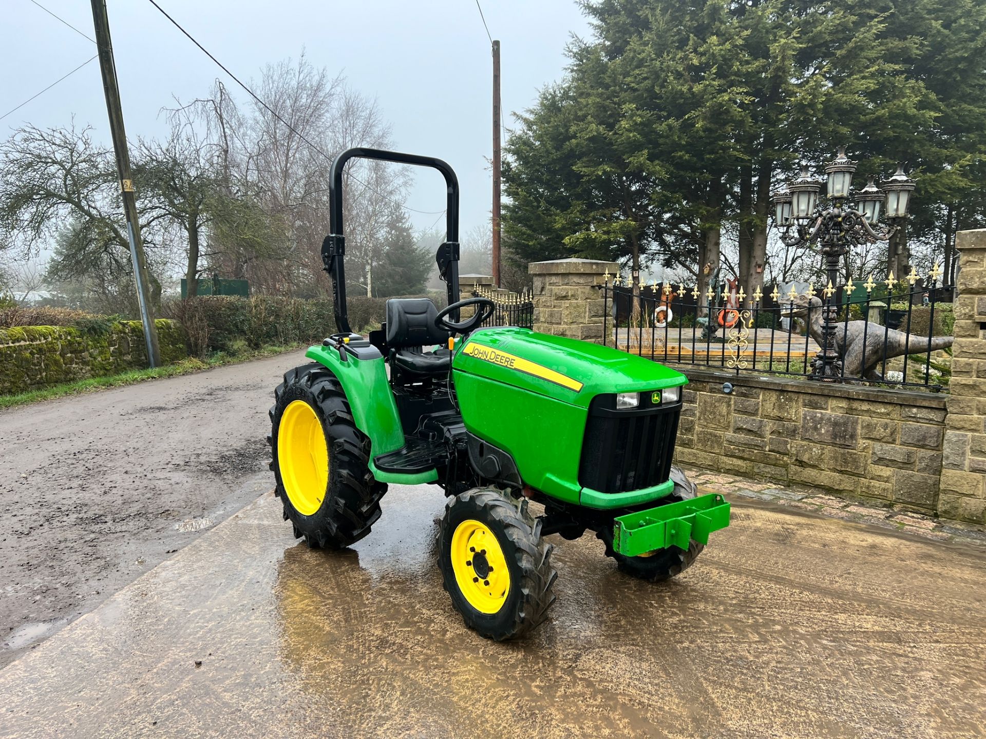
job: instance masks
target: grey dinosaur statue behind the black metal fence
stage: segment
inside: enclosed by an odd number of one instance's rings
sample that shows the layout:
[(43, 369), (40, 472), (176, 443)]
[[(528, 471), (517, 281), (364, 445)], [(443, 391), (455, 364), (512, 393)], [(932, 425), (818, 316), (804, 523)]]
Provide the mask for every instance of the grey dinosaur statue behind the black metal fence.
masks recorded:
[[(800, 318), (809, 326), (809, 333), (820, 347), (824, 342), (821, 329), (822, 303), (816, 296), (808, 298), (796, 296), (793, 300), (781, 301), (781, 314), (785, 317)], [(810, 307), (809, 307), (810, 305)], [(883, 350), (883, 337), (886, 336), (886, 351)], [(866, 342), (864, 344), (864, 336)], [(905, 354), (926, 354), (928, 350), (951, 347), (951, 336), (911, 336), (903, 331), (885, 329), (877, 323), (867, 321), (840, 321), (835, 331), (835, 349), (843, 362), (846, 377), (862, 377), (882, 381), (877, 366), (883, 359), (890, 360)], [(866, 351), (864, 352), (864, 346)], [(864, 364), (864, 354), (865, 363)]]

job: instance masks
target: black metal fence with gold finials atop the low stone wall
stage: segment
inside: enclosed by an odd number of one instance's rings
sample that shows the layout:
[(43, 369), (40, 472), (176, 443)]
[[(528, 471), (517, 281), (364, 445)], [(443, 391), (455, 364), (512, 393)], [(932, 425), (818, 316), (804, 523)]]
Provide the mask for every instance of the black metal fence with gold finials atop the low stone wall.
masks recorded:
[[(617, 278), (600, 286), (603, 343), (658, 362), (817, 379), (816, 358), (834, 352), (837, 374), (828, 381), (938, 391), (951, 374), (941, 350), (951, 347), (952, 290), (922, 288), (915, 277), (768, 295), (746, 295), (735, 283), (705, 293), (641, 285), (636, 297)], [(834, 347), (825, 346), (826, 311), (836, 321)]]

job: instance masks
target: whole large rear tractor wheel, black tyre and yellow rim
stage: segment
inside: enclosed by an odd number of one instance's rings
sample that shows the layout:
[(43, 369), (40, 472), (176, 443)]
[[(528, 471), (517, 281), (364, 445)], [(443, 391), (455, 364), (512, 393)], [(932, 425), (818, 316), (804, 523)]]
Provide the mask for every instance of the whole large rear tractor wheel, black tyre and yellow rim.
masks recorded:
[(269, 415), (274, 492), (295, 536), (342, 549), (369, 534), (387, 485), (370, 472), (370, 439), (338, 379), (318, 364), (288, 370)]

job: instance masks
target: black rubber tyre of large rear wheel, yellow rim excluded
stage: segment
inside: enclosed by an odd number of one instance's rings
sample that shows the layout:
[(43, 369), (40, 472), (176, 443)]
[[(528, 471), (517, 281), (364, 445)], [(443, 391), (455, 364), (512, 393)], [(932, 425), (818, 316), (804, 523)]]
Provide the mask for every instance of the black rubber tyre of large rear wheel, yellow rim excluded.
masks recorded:
[[(291, 403), (308, 404), (317, 416), (328, 458), (327, 485), (317, 510), (298, 509), (285, 488), (278, 454), (279, 428)], [(370, 533), (381, 516), (380, 500), (387, 484), (370, 472), (370, 439), (356, 428), (349, 402), (338, 379), (321, 365), (288, 370), (274, 390), (270, 412), (273, 459), (270, 468), (276, 482), (275, 495), (284, 506), (284, 519), (294, 526), (296, 537), (305, 537), (310, 547), (342, 549)]]

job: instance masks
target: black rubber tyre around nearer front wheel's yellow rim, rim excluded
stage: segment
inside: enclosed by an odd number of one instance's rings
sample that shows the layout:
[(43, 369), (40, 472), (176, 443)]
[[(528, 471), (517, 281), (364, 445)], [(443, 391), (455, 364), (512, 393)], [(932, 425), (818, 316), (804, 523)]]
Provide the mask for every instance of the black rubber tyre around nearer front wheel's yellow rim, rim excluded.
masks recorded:
[[(495, 537), (510, 574), (509, 589), (495, 613), (474, 607), (457, 580), (453, 539), (458, 527), (469, 522), (481, 523)], [(528, 514), (526, 501), (515, 504), (495, 488), (474, 488), (446, 505), (439, 526), (438, 567), (465, 625), (482, 637), (503, 641), (528, 633), (547, 618), (558, 576), (549, 563), (553, 549), (541, 538), (541, 523)]]

